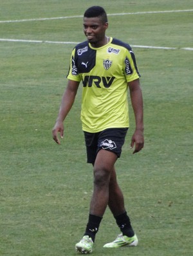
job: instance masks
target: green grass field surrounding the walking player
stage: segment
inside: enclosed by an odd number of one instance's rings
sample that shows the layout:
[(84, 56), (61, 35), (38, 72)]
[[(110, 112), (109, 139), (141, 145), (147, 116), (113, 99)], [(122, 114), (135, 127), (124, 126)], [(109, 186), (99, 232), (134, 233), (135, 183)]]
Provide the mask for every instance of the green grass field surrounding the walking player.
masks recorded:
[[(131, 129), (116, 169), (140, 244), (102, 247), (119, 232), (107, 209), (93, 255), (192, 255), (191, 2), (97, 1), (111, 14), (107, 35), (134, 46), (142, 75), (145, 148), (132, 155), (131, 111)], [(82, 17), (71, 16), (83, 15), (91, 5), (96, 1), (1, 0), (2, 256), (77, 255), (75, 243), (84, 233), (93, 187), (79, 118), (81, 87), (60, 146), (51, 129), (73, 42), (85, 40)]]

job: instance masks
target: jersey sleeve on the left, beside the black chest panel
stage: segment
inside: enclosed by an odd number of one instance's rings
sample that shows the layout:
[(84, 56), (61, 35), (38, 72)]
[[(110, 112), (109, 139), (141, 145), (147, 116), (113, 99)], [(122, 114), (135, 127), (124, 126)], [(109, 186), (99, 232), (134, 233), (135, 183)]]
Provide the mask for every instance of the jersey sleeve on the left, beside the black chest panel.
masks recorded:
[(71, 53), (68, 75), (69, 80), (80, 82), (82, 80), (81, 75), (78, 73), (77, 61), (75, 60), (75, 48)]

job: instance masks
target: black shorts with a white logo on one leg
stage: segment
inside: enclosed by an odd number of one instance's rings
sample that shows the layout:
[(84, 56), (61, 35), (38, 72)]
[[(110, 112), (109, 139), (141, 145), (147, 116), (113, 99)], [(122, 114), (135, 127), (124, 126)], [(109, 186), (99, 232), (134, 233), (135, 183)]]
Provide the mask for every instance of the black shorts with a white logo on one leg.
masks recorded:
[(84, 132), (87, 162), (95, 163), (99, 150), (108, 150), (120, 157), (128, 128), (109, 128), (102, 132)]

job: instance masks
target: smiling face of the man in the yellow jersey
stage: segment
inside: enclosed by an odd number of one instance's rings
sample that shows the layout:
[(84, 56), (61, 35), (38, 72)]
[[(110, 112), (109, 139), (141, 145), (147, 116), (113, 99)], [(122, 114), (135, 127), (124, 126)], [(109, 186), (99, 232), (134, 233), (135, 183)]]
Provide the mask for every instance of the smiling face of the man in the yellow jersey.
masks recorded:
[(108, 23), (103, 23), (100, 17), (84, 17), (83, 22), (84, 34), (91, 46), (97, 48), (106, 44), (106, 29)]

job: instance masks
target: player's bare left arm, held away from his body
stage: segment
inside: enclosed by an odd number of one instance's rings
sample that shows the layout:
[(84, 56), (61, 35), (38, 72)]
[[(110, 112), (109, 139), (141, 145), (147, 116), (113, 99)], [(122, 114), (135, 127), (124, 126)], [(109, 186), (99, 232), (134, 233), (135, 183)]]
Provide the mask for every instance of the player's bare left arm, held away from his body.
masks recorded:
[(73, 106), (73, 103), (75, 101), (75, 97), (77, 94), (79, 82), (68, 80), (68, 84), (66, 87), (66, 90), (62, 96), (62, 103), (60, 105), (59, 115), (57, 117), (57, 121), (55, 123), (55, 126), (52, 130), (52, 137), (53, 140), (60, 144), (59, 138), (58, 138), (58, 132), (60, 132), (60, 137), (63, 138), (64, 134), (64, 124), (63, 121), (68, 115), (69, 110), (71, 110), (71, 107)]

